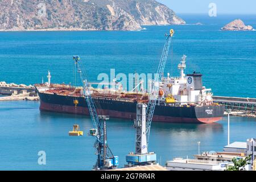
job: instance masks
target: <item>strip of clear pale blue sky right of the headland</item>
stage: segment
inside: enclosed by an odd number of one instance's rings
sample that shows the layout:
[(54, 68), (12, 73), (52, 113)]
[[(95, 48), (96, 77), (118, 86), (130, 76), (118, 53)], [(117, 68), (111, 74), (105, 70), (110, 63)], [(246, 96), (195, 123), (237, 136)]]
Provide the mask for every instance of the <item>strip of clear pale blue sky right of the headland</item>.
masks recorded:
[(256, 14), (255, 0), (156, 0), (175, 13), (208, 13), (209, 3), (216, 3), (218, 14)]

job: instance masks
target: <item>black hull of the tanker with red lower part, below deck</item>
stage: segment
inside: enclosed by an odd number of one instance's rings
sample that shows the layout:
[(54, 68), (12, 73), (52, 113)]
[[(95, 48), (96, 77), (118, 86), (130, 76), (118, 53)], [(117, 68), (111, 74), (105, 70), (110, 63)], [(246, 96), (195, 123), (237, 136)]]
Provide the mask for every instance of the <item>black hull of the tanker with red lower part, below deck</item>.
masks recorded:
[[(89, 115), (84, 97), (76, 97), (79, 104), (73, 104), (73, 96), (64, 96), (52, 93), (38, 92), (40, 97), (40, 110), (60, 113), (77, 113)], [(137, 102), (112, 100), (109, 98), (94, 97), (99, 105), (98, 113), (114, 118), (135, 119)], [(160, 106), (156, 105), (152, 121), (178, 122), (178, 123), (213, 123), (219, 121), (224, 115), (225, 106)]]

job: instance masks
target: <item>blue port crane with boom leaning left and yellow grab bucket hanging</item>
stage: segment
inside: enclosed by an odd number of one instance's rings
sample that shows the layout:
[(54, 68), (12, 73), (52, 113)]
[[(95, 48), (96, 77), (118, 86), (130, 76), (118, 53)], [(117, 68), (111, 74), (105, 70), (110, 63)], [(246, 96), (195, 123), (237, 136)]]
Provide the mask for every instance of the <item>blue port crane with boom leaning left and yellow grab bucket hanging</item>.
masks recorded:
[[(82, 67), (80, 57), (73, 56), (73, 60), (75, 61), (76, 71), (79, 73), (80, 79), (82, 81), (84, 97), (87, 102), (88, 110), (93, 123), (93, 129), (90, 129), (89, 135), (96, 138), (94, 147), (96, 148), (97, 162), (93, 169), (104, 170), (117, 168), (118, 156), (113, 155), (107, 143), (106, 120), (109, 119), (109, 116), (98, 115), (96, 103), (93, 101), (91, 95), (92, 91), (90, 90), (90, 86), (86, 80), (86, 73)], [(76, 103), (78, 104), (78, 101)], [(74, 125), (74, 129), (73, 131), (69, 132), (69, 135), (79, 136), (82, 135), (82, 133), (79, 130), (79, 127)]]

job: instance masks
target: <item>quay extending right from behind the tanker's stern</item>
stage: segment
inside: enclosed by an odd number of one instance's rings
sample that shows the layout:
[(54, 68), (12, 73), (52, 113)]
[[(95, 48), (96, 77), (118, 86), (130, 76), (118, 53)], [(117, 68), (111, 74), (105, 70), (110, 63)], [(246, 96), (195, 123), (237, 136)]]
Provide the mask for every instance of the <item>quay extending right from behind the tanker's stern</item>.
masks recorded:
[(256, 118), (256, 98), (213, 96), (213, 102), (231, 109), (230, 115)]

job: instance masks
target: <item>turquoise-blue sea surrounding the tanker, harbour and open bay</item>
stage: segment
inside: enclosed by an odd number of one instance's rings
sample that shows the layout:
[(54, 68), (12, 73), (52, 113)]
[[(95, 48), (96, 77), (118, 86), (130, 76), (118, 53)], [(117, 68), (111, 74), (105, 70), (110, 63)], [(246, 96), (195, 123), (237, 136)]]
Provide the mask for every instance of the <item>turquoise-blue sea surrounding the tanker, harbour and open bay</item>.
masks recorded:
[[(187, 73), (203, 73), (204, 86), (214, 95), (256, 97), (256, 31), (220, 31), (230, 21), (241, 18), (256, 28), (256, 15), (180, 15), (182, 26), (146, 26), (141, 31), (59, 31), (0, 32), (0, 81), (35, 84), (47, 80), (69, 83), (73, 78), (72, 55), (80, 55), (88, 79), (97, 81), (99, 73), (152, 73), (162, 53), (164, 34), (174, 28), (173, 59), (166, 72), (178, 75), (176, 67), (187, 55)], [(202, 25), (195, 25), (195, 23)], [(92, 127), (89, 117), (47, 113), (39, 102), (0, 102), (0, 169), (79, 169), (89, 170), (96, 162), (94, 138), (68, 137), (74, 123), (84, 133)], [(201, 151), (221, 151), (227, 143), (227, 119), (207, 124), (152, 123), (150, 151), (159, 162), (186, 158)], [(134, 151), (133, 122), (111, 118), (108, 122), (109, 146), (119, 156)], [(256, 120), (231, 117), (230, 140), (256, 137)], [(38, 152), (46, 152), (46, 165), (38, 164)]]

